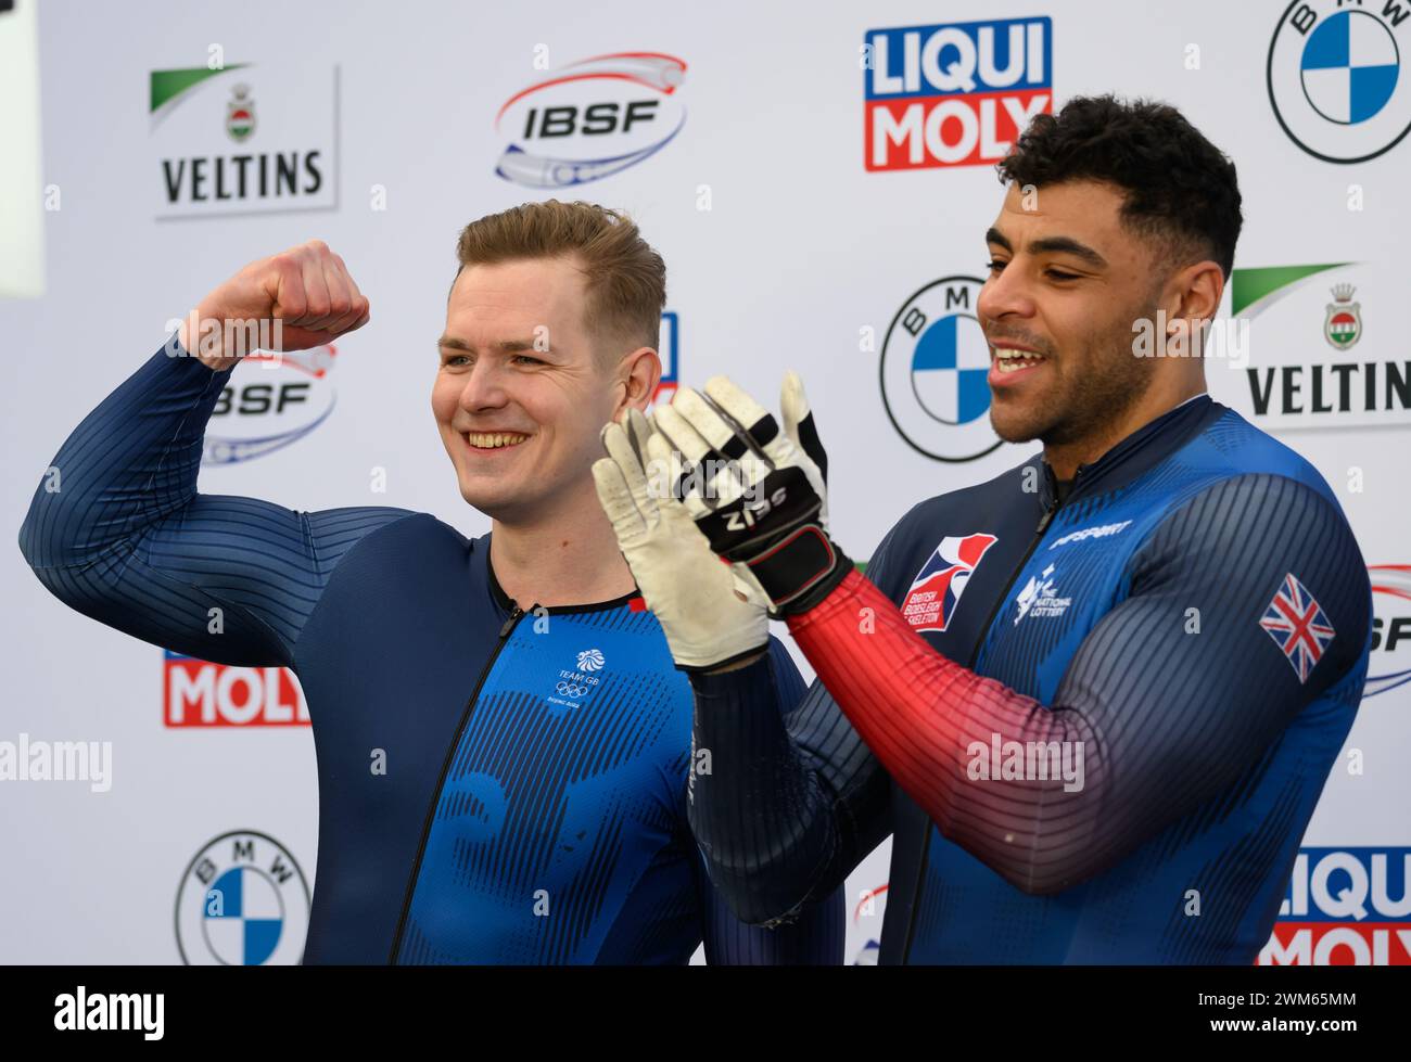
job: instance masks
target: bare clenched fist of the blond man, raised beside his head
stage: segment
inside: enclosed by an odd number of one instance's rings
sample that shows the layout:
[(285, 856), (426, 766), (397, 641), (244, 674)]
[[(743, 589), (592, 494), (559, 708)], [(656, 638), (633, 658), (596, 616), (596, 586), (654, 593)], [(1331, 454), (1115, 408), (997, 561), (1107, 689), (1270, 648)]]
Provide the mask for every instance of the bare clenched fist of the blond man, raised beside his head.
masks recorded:
[[(264, 322), (274, 350), (308, 350), (368, 322), (368, 302), (343, 260), (322, 240), (250, 262), (200, 300), (198, 333), (182, 322), (181, 344), (213, 370), (234, 365), (250, 350), (227, 350), (231, 336)], [(206, 322), (216, 322), (220, 329)], [(279, 322), (279, 331), (274, 330)], [(196, 346), (192, 346), (196, 344)]]

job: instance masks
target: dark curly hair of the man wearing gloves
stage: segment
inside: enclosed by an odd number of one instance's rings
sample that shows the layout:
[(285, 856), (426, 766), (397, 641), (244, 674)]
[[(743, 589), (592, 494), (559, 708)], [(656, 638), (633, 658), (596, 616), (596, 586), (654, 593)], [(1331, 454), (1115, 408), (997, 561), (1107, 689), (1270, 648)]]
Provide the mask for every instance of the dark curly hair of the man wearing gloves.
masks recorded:
[(1122, 220), (1168, 268), (1208, 257), (1229, 279), (1242, 224), (1235, 164), (1175, 107), (1077, 96), (1040, 114), (998, 164), (1020, 188), (1101, 181), (1126, 193)]

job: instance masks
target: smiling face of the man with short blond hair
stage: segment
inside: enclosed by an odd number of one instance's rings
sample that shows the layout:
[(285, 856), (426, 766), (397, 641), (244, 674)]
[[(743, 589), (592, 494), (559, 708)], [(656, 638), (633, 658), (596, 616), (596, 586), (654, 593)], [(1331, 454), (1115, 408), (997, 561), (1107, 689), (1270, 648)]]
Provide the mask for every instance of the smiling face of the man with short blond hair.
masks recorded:
[(461, 496), (492, 519), (597, 506), (598, 432), (635, 395), (583, 317), (583, 274), (569, 258), (470, 265), (456, 279), (432, 410)]

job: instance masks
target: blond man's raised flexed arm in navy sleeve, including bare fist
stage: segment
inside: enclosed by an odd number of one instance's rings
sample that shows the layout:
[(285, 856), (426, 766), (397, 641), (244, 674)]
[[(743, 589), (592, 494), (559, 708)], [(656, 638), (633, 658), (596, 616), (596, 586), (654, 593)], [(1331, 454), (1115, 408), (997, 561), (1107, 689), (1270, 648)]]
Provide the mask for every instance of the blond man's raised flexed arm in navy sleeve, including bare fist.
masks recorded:
[[(310, 244), (246, 267), (199, 317), (277, 319), (284, 348), (301, 350), (360, 327), (367, 300)], [(198, 494), (206, 422), (241, 353), (213, 333), (203, 344), (172, 336), (59, 448), (20, 549), (55, 597), (102, 623), (217, 663), (288, 664), (339, 557), (409, 513)]]

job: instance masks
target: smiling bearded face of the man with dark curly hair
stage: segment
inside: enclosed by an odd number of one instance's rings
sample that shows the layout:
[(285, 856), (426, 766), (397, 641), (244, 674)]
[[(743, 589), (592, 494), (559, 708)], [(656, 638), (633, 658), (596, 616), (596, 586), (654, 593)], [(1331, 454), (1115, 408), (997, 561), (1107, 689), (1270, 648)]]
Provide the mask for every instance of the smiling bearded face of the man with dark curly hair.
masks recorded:
[(1122, 224), (1118, 189), (1072, 181), (1034, 199), (1026, 210), (1012, 183), (988, 233), (976, 306), (991, 347), (991, 423), (1012, 443), (1067, 446), (1110, 433), (1165, 371), (1164, 360), (1132, 351), (1133, 322), (1154, 320), (1165, 278), (1154, 274), (1151, 241)]

